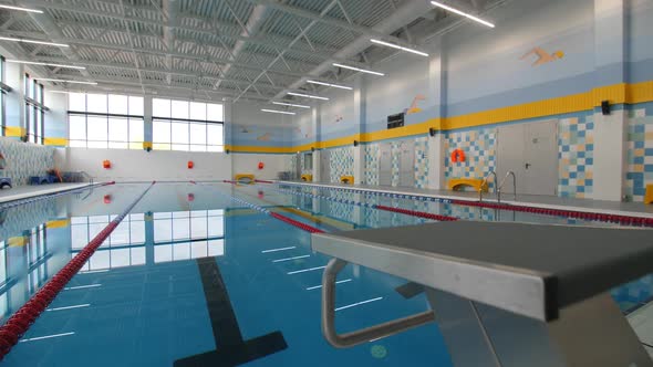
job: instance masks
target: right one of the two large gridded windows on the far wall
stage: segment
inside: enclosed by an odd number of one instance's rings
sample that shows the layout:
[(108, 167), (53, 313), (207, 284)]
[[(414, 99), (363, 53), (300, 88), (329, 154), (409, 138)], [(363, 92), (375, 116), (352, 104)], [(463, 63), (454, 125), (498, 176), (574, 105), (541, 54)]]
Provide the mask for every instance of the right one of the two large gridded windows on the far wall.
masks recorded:
[(152, 102), (154, 149), (222, 151), (222, 105), (162, 98)]

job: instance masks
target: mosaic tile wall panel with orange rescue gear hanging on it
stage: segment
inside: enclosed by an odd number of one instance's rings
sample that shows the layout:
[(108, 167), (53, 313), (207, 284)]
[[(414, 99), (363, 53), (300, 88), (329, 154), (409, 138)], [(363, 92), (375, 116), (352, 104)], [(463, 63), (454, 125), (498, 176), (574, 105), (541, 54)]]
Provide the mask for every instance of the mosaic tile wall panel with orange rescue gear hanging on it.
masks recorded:
[[(465, 161), (452, 162), (449, 157), (455, 149), (463, 149)], [(446, 133), (446, 180), (450, 178), (484, 178), (496, 169), (496, 161), (497, 130), (495, 128)]]

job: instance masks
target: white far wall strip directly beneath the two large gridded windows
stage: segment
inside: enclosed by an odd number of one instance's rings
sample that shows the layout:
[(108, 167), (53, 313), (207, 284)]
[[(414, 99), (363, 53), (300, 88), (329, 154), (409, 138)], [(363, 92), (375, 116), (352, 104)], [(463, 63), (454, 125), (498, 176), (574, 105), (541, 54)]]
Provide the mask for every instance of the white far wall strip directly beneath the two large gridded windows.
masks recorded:
[[(105, 159), (111, 169), (102, 168)], [(224, 180), (231, 177), (231, 158), (222, 153), (68, 148), (66, 170), (86, 171), (96, 181)]]

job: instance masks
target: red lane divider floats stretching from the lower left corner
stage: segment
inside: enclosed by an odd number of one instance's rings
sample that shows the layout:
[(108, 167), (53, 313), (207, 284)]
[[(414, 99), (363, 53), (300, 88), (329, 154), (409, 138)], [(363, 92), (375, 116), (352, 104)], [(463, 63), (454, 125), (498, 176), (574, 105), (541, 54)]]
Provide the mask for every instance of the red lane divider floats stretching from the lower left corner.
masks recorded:
[[(154, 182), (152, 182), (154, 185)], [(0, 327), (0, 360), (11, 350), (11, 348), (28, 332), (37, 318), (48, 308), (48, 305), (56, 297), (59, 292), (70, 282), (70, 280), (91, 259), (95, 250), (108, 238), (123, 219), (132, 211), (141, 199), (149, 191), (152, 185), (131, 203), (122, 214), (116, 217), (106, 226), (82, 251), (80, 251), (65, 266), (63, 266), (52, 279), (34, 293), (32, 297), (22, 305), (2, 327)]]

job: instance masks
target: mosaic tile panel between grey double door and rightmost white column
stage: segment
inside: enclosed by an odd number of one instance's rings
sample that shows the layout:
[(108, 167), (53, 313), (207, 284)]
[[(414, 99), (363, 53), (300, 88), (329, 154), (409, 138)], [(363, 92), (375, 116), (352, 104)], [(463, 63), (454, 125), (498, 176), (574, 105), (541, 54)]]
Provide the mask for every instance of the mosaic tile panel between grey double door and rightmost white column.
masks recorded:
[(594, 184), (594, 118), (562, 118), (558, 123), (558, 196), (591, 197)]

